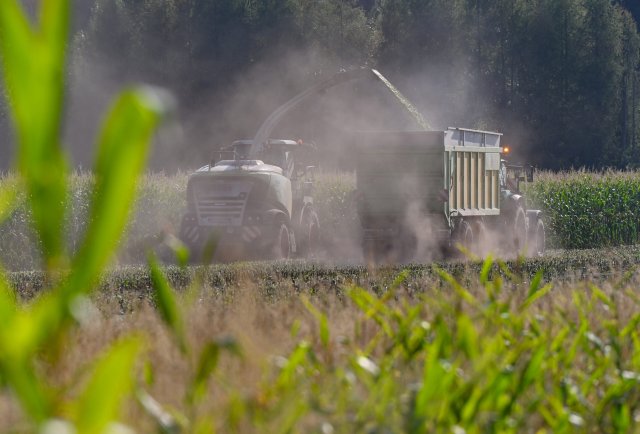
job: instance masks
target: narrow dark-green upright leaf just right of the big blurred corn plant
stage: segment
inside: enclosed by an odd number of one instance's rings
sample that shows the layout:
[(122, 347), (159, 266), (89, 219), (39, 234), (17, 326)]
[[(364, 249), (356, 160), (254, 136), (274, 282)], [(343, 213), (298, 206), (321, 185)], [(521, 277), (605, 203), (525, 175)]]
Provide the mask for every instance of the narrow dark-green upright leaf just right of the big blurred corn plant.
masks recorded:
[(149, 257), (149, 268), (151, 270), (151, 281), (155, 290), (155, 301), (160, 311), (160, 316), (171, 330), (183, 353), (187, 352), (187, 342), (184, 335), (184, 319), (176, 301), (173, 289), (162, 274), (160, 266), (153, 256)]

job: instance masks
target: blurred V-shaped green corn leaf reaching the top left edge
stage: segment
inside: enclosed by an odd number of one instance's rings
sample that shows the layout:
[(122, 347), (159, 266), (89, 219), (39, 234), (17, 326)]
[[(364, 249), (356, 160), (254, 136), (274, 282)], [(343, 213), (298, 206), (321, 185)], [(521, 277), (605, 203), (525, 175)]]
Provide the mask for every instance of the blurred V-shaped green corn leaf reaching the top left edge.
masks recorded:
[(68, 0), (43, 0), (32, 29), (17, 0), (0, 2), (0, 47), (33, 224), (50, 269), (63, 264), (67, 164), (59, 142)]

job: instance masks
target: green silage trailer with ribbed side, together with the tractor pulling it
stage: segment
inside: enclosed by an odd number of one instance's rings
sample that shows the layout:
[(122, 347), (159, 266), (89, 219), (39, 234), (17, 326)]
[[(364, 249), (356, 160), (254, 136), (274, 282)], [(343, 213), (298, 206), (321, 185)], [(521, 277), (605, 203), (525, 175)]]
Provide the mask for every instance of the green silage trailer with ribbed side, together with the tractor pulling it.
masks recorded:
[(520, 192), (532, 171), (509, 166), (500, 140), (500, 133), (463, 128), (359, 134), (365, 259), (407, 262), (460, 246), (476, 254), (543, 254), (542, 214), (527, 209)]

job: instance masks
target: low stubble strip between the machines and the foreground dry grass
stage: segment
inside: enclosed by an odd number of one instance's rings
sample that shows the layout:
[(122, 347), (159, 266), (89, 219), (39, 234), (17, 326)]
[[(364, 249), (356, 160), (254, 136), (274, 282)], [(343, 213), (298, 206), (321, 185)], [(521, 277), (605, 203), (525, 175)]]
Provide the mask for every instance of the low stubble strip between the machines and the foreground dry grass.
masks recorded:
[[(555, 251), (543, 258), (511, 260), (495, 263), (492, 273), (511, 273), (523, 282), (542, 272), (546, 281), (572, 282), (590, 279), (601, 281), (635, 270), (640, 263), (640, 246), (616, 249)], [(408, 271), (404, 287), (408, 292), (422, 292), (429, 284), (441, 285), (438, 269), (472, 284), (480, 274), (483, 261), (456, 261), (434, 264), (407, 264), (370, 268), (360, 265), (332, 266), (301, 261), (248, 262), (209, 267), (167, 266), (169, 282), (179, 290), (202, 284), (208, 290), (232, 294), (248, 286), (256, 294), (277, 301), (300, 292), (340, 293), (351, 285), (384, 292), (403, 270)], [(23, 299), (29, 299), (45, 288), (44, 273), (14, 272), (9, 274), (12, 286)], [(426, 284), (426, 285), (425, 285)], [(122, 308), (135, 299), (151, 299), (153, 286), (146, 267), (123, 267), (109, 272), (100, 283), (99, 294), (112, 295), (122, 301)]]

